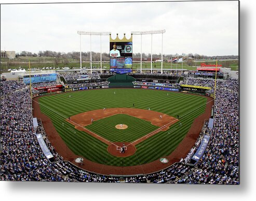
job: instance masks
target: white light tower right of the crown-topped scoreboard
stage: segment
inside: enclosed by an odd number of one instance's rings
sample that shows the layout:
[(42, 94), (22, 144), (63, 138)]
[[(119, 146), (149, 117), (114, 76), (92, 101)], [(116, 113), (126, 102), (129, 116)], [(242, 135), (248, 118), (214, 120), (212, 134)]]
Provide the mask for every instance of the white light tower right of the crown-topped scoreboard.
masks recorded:
[(163, 30), (144, 30), (138, 32), (131, 32), (132, 35), (141, 35), (141, 53), (140, 53), (140, 72), (142, 73), (142, 35), (151, 34), (151, 73), (152, 73), (152, 40), (153, 34), (162, 34), (162, 52), (161, 52), (161, 74), (163, 74), (163, 34), (165, 33), (165, 29)]

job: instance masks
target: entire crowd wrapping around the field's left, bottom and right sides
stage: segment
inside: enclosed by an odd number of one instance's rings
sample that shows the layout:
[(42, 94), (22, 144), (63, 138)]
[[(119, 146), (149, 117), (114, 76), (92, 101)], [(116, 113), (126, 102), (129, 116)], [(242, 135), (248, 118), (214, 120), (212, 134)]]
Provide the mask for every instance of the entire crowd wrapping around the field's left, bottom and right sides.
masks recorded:
[[(214, 86), (212, 80), (188, 79), (187, 84)], [(33, 128), (29, 87), (16, 81), (1, 82), (0, 178), (18, 181), (238, 184), (238, 81), (218, 81), (217, 85), (214, 127), (212, 132), (203, 130), (203, 134), (211, 134), (210, 142), (195, 166), (187, 163), (200, 141), (196, 142), (184, 161), (164, 171), (119, 178), (89, 173), (63, 161), (47, 139), (43, 125), (39, 122), (39, 126)], [(51, 163), (44, 156), (36, 133), (44, 136), (55, 162)]]

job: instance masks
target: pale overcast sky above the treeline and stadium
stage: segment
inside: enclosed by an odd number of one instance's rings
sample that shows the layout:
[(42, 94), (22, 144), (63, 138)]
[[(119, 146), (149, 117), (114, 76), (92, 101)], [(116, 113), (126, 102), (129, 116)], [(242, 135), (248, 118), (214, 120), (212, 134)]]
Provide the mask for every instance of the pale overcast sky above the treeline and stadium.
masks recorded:
[[(238, 55), (238, 1), (1, 5), (1, 50), (7, 51), (80, 51), (77, 30), (129, 38), (159, 29), (166, 30), (164, 54)], [(82, 51), (90, 51), (90, 37), (81, 38)], [(140, 53), (140, 40), (133, 36), (133, 53)], [(100, 36), (91, 41), (100, 52)], [(109, 52), (109, 36), (102, 36), (102, 52)], [(151, 53), (151, 35), (142, 36), (142, 52)], [(160, 52), (155, 34), (153, 53)]]

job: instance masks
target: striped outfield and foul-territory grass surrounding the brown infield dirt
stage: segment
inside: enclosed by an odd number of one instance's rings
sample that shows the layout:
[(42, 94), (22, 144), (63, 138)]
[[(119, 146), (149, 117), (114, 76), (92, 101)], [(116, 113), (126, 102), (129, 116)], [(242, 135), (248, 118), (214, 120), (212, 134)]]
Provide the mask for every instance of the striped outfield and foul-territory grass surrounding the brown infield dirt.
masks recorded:
[[(207, 98), (201, 96), (147, 89), (97, 89), (39, 98), (42, 112), (51, 118), (57, 132), (75, 154), (94, 162), (115, 166), (145, 164), (169, 155), (183, 140), (194, 119), (205, 112), (206, 101)], [(133, 108), (133, 103), (135, 108), (147, 110), (150, 107), (152, 111), (173, 117), (179, 115), (182, 126), (179, 126), (179, 122), (175, 123), (168, 131), (161, 131), (136, 145), (137, 151), (133, 156), (119, 158), (107, 152), (107, 145), (83, 131), (77, 131), (64, 120), (69, 116), (103, 107)], [(177, 130), (170, 132), (174, 128)]]

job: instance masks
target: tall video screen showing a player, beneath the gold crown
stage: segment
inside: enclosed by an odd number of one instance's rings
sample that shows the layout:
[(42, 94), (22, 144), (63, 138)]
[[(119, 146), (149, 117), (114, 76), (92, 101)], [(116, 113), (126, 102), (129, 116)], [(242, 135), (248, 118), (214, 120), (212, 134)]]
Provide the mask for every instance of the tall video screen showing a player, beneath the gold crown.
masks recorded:
[(110, 42), (110, 71), (132, 71), (132, 42)]

